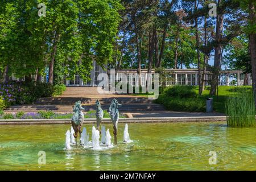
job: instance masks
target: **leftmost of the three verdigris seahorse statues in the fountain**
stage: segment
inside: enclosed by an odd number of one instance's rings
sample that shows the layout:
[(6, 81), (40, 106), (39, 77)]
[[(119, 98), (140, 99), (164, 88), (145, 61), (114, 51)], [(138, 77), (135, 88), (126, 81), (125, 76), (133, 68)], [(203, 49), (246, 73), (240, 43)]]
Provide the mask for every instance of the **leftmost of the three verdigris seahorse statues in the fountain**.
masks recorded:
[[(72, 117), (72, 122), (71, 122), (72, 127), (75, 131), (74, 133), (75, 138), (78, 137), (78, 133), (79, 133), (79, 138), (81, 138), (82, 122), (84, 122), (84, 113), (82, 113), (82, 110), (84, 110), (84, 108), (81, 105), (81, 101), (77, 101), (75, 106), (73, 107), (74, 115)], [(76, 142), (76, 147), (77, 147), (77, 142)]]

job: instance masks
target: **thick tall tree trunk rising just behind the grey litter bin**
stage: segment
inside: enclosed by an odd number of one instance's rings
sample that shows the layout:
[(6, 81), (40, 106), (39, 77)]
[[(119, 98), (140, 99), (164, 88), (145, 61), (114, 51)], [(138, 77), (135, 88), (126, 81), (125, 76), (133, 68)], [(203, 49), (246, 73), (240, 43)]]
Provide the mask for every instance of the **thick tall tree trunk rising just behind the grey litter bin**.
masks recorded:
[[(220, 4), (221, 0), (218, 0)], [(221, 38), (223, 31), (223, 14), (217, 15), (216, 21), (216, 46), (214, 46), (214, 65), (213, 65), (213, 75), (212, 75), (212, 84), (210, 86), (210, 96), (216, 95), (216, 89), (218, 85), (218, 75), (220, 73), (220, 61), (221, 61)]]

